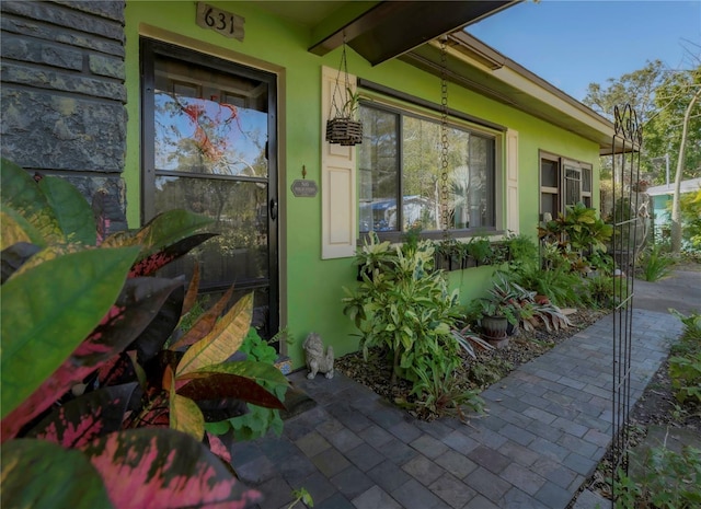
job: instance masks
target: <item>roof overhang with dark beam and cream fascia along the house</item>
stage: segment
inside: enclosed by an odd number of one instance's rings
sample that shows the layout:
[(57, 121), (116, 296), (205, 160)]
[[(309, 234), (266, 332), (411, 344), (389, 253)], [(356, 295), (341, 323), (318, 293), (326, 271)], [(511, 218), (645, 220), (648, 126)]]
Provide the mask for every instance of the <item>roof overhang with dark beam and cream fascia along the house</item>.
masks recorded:
[(325, 55), (345, 43), (374, 66), (399, 58), (440, 76), (438, 41), (447, 37), (447, 77), (598, 144), (613, 147), (613, 124), (463, 28), (521, 0), (263, 1), (262, 9), (310, 28), (309, 51)]

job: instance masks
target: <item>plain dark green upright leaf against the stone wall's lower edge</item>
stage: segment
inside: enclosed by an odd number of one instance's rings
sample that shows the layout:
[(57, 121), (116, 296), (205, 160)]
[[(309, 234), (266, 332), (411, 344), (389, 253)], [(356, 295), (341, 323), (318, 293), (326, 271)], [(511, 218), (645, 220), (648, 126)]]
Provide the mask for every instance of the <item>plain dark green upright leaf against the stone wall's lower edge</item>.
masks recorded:
[(83, 195), (70, 182), (58, 176), (45, 176), (38, 186), (46, 196), (66, 240), (71, 243), (95, 245), (95, 221), (92, 208)]

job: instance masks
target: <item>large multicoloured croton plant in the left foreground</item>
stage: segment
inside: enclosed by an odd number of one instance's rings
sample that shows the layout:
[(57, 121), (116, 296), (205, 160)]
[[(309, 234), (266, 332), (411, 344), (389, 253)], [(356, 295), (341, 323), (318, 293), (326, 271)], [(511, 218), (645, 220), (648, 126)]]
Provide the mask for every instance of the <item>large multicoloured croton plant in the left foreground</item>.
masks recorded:
[[(206, 423), (283, 408), (268, 363), (231, 360), (252, 297), (231, 291), (175, 338), (197, 275), (154, 273), (211, 238), (172, 210), (105, 235), (100, 200), (1, 161), (2, 507), (243, 508)], [(186, 288), (187, 287), (187, 288)]]

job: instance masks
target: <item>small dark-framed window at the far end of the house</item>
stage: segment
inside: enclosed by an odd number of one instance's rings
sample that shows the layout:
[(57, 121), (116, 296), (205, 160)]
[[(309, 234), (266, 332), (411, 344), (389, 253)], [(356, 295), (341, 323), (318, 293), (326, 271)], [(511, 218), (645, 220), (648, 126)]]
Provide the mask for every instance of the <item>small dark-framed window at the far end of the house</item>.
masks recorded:
[(540, 215), (556, 218), (582, 201), (591, 207), (591, 165), (558, 155), (540, 154)]

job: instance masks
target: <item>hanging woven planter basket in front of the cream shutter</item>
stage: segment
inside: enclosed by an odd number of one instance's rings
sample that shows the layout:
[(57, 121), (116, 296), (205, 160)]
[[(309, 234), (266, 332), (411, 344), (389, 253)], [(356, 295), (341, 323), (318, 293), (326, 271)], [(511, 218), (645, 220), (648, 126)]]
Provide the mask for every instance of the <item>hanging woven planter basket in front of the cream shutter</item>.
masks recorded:
[[(343, 83), (341, 72), (344, 74)], [(342, 84), (344, 85), (343, 94), (341, 93)], [(336, 101), (343, 104), (340, 105)], [(333, 99), (331, 100), (329, 120), (326, 120), (326, 141), (345, 147), (363, 143), (363, 123), (355, 119), (357, 108), (358, 96), (350, 89), (346, 61), (346, 43), (344, 41), (341, 66), (338, 66), (338, 74), (333, 90)]]

